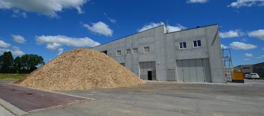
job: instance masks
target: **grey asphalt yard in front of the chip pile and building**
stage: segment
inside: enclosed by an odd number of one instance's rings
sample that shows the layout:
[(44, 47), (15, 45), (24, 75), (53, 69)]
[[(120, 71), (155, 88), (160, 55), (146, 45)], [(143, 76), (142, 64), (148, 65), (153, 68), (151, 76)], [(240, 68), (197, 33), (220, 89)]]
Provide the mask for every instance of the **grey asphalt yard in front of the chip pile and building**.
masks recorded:
[(264, 80), (245, 82), (148, 81), (130, 88), (57, 91), (95, 100), (26, 116), (264, 116)]

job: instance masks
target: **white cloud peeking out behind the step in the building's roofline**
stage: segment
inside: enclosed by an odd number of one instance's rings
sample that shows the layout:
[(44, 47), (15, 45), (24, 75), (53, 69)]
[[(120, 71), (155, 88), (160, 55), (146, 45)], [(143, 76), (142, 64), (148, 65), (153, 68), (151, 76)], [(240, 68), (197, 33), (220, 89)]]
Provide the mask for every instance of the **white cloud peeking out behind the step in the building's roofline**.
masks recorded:
[[(137, 32), (142, 32), (142, 31), (145, 31), (145, 30), (148, 30), (148, 29), (160, 26), (160, 25), (164, 25), (164, 22), (158, 22), (158, 23), (150, 22), (149, 24), (146, 24), (142, 28), (138, 29)], [(180, 24), (176, 24), (176, 26), (168, 25), (167, 28), (171, 32), (187, 29), (187, 27), (184, 27), (184, 26), (182, 26)]]

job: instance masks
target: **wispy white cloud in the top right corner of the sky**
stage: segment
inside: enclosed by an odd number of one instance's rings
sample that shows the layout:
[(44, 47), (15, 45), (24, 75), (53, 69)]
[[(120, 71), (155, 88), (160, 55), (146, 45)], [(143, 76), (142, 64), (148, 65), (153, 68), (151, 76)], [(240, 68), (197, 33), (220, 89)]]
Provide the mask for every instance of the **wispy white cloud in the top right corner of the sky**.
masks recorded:
[(242, 6), (252, 7), (252, 6), (264, 6), (264, 0), (237, 0), (232, 2), (227, 7), (240, 8)]

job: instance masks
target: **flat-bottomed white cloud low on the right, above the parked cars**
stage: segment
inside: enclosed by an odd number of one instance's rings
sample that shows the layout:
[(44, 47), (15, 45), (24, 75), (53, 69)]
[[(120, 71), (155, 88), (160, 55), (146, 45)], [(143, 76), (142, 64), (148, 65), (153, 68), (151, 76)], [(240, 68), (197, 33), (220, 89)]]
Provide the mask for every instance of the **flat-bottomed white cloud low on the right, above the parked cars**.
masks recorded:
[(249, 50), (249, 49), (255, 49), (258, 46), (253, 45), (253, 44), (234, 41), (234, 42), (230, 43), (230, 47), (235, 49), (235, 50)]

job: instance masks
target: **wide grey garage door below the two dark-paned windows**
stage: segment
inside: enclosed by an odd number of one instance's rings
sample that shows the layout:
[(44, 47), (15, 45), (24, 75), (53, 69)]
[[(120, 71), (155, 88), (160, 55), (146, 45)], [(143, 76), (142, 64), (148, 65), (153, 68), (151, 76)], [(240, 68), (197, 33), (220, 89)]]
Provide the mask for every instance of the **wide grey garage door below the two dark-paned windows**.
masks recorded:
[(176, 60), (177, 81), (212, 82), (209, 59)]

